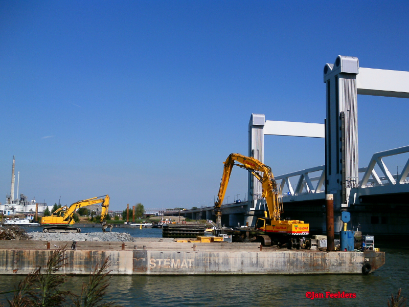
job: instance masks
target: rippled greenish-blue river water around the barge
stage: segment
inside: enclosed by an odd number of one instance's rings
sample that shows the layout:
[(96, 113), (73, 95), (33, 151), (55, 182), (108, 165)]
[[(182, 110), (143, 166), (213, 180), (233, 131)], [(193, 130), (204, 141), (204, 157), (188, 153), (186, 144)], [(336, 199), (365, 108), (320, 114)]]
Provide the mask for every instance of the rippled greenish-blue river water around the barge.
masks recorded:
[[(28, 231), (39, 231), (37, 227)], [(83, 232), (101, 229), (83, 228)], [(134, 237), (161, 237), (161, 229), (113, 229)], [(107, 299), (123, 306), (387, 306), (402, 288), (409, 297), (409, 247), (376, 244), (386, 263), (363, 275), (232, 275), (232, 276), (112, 276)], [(21, 276), (0, 276), (0, 292), (12, 290)], [(87, 277), (73, 276), (66, 289), (81, 292)], [(355, 298), (325, 298), (326, 292), (355, 293)], [(309, 299), (307, 292), (323, 293)], [(5, 303), (6, 296), (0, 295)], [(7, 304), (6, 304), (7, 305)]]

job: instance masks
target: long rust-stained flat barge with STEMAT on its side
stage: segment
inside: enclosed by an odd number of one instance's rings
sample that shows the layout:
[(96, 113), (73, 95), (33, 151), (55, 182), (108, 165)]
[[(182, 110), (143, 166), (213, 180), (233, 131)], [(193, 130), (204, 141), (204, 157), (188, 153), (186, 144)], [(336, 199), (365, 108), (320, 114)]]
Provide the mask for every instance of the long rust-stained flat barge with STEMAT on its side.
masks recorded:
[[(385, 263), (383, 252), (282, 250), (258, 243), (177, 243), (161, 238), (138, 242), (3, 241), (0, 274), (28, 274), (44, 267), (53, 250), (67, 246), (60, 273), (89, 274), (110, 259), (116, 275), (362, 274)], [(162, 239), (163, 240), (163, 239)], [(73, 250), (72, 248), (75, 248)]]

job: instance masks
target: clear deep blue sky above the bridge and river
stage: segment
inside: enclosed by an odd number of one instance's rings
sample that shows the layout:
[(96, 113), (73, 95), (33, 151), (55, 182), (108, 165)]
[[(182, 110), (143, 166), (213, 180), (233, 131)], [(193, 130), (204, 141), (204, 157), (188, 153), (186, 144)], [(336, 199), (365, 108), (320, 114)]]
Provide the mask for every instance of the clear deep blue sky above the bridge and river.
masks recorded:
[[(407, 1), (1, 1), (0, 202), (15, 155), (19, 192), (49, 204), (211, 205), (252, 113), (324, 122), (325, 63), (409, 71), (408, 15)], [(358, 97), (360, 167), (409, 144), (408, 103)], [(324, 164), (323, 140), (265, 148), (276, 176)], [(234, 170), (229, 200), (246, 190)]]

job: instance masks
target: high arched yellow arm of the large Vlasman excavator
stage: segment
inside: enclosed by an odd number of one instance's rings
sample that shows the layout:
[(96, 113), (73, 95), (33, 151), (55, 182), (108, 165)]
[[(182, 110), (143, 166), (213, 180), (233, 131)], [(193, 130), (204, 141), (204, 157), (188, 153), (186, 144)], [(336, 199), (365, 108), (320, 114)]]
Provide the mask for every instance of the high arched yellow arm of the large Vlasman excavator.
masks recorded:
[(240, 155), (240, 153), (231, 153), (231, 155), (223, 163), (223, 175), (221, 177), (220, 189), (217, 194), (217, 201), (215, 202), (214, 209), (217, 218), (217, 228), (221, 227), (221, 204), (223, 203), (224, 195), (229, 184), (230, 175), (234, 165), (248, 170), (262, 183), (262, 197), (265, 198), (268, 209), (268, 212), (264, 212), (265, 217), (269, 217), (272, 220), (279, 220), (280, 214), (283, 212), (283, 207), (278, 199), (278, 187), (271, 172), (271, 168), (253, 157), (245, 157)]

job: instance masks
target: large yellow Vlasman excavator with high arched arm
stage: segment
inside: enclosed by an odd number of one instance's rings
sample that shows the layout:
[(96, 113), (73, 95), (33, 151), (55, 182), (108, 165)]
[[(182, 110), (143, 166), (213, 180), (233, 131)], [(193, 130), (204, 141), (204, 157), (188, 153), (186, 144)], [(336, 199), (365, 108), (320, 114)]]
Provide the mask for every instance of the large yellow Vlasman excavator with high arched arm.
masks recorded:
[[(279, 188), (271, 172), (271, 168), (253, 157), (245, 157), (239, 153), (231, 153), (224, 163), (223, 176), (221, 177), (220, 189), (215, 202), (216, 228), (221, 229), (221, 204), (229, 184), (233, 166), (244, 168), (251, 172), (263, 186), (262, 197), (267, 203), (264, 216), (258, 217), (253, 231), (243, 229), (246, 232), (246, 240), (258, 240), (263, 245), (269, 246), (286, 244), (289, 248), (300, 248), (300, 238), (309, 234), (309, 224), (300, 220), (281, 220), (283, 204), (279, 199)], [(250, 235), (250, 237), (249, 237)]]

